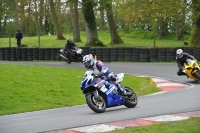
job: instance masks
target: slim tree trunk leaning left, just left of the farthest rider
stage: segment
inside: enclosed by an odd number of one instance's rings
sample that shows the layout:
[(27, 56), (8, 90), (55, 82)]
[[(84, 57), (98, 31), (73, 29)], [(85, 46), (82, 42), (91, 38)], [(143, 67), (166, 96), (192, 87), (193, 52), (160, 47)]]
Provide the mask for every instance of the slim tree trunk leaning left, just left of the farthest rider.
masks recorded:
[(56, 30), (57, 40), (65, 40), (65, 38), (63, 37), (62, 32), (61, 32), (61, 27), (58, 22), (57, 14), (55, 12), (53, 0), (49, 0), (49, 6), (50, 6), (50, 10), (51, 10), (51, 17), (52, 17), (54, 27)]

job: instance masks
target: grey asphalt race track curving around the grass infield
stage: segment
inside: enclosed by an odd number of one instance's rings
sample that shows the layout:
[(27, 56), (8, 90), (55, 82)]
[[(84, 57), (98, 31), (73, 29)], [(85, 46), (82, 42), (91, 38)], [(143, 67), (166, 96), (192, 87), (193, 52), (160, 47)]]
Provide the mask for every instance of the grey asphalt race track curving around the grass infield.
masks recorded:
[[(9, 62), (0, 64), (38, 64), (56, 67), (71, 67), (84, 69), (81, 63), (66, 64), (65, 62)], [(105, 122), (137, 119), (151, 116), (168, 115), (200, 111), (200, 82), (177, 76), (176, 64), (161, 63), (105, 63), (114, 72), (141, 74), (161, 77), (191, 85), (191, 87), (138, 97), (135, 108), (125, 106), (107, 108), (104, 113), (97, 114), (87, 105), (28, 112), (0, 116), (0, 133), (36, 133), (74, 127), (82, 127)], [(126, 80), (126, 79), (124, 79)], [(133, 81), (134, 82), (134, 81)], [(123, 83), (122, 83), (123, 84)], [(81, 91), (81, 90), (80, 90)]]

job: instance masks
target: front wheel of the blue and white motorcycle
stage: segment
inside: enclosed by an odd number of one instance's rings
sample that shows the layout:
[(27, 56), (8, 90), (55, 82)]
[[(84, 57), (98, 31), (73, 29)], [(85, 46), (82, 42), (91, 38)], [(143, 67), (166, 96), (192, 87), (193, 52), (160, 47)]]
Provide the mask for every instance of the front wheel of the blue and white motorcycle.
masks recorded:
[(103, 113), (106, 110), (106, 102), (101, 97), (98, 98), (94, 97), (94, 94), (90, 93), (86, 96), (87, 105), (96, 113)]

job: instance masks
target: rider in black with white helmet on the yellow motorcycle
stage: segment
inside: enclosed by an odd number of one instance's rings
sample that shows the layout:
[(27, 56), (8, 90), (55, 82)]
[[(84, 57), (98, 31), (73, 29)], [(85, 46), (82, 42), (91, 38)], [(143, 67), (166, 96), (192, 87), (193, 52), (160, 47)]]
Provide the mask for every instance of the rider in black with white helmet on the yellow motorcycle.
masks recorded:
[(183, 71), (184, 63), (186, 62), (187, 59), (196, 60), (192, 55), (189, 55), (188, 53), (184, 53), (182, 49), (176, 50), (176, 62), (179, 67), (177, 74), (179, 76), (186, 75), (188, 77), (188, 75)]

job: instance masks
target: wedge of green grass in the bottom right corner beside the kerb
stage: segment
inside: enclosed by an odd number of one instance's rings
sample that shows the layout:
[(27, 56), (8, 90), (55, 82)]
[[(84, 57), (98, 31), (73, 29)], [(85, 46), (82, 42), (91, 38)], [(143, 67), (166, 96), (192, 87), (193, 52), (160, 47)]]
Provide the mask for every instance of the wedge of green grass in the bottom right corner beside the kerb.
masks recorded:
[(199, 133), (200, 118), (175, 122), (161, 122), (143, 127), (126, 128), (107, 133)]

